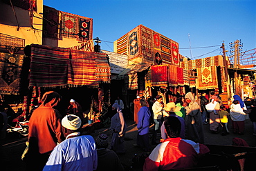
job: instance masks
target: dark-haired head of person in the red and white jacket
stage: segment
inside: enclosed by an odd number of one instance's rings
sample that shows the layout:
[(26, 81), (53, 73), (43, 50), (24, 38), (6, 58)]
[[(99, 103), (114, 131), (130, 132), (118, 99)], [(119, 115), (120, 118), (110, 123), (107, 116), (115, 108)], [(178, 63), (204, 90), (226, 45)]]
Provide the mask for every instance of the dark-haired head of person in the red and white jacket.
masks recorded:
[(179, 137), (181, 132), (181, 121), (177, 117), (167, 117), (165, 119), (165, 133), (170, 138)]

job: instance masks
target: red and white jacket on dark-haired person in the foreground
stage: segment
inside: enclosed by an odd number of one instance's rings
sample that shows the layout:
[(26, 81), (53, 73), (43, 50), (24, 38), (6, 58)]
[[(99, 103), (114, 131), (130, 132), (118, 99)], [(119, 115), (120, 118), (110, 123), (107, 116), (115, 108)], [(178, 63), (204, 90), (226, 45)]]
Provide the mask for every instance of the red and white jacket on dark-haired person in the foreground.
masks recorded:
[(193, 168), (201, 154), (210, 152), (203, 144), (178, 138), (165, 139), (147, 157), (143, 170), (170, 170)]

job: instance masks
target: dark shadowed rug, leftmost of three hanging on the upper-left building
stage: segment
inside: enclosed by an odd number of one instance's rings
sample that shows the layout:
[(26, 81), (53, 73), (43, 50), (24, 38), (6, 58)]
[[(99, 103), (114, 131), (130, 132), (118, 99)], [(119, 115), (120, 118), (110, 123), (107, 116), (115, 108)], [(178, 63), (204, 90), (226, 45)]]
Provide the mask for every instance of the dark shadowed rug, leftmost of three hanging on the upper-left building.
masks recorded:
[(58, 38), (59, 11), (44, 6), (43, 37)]

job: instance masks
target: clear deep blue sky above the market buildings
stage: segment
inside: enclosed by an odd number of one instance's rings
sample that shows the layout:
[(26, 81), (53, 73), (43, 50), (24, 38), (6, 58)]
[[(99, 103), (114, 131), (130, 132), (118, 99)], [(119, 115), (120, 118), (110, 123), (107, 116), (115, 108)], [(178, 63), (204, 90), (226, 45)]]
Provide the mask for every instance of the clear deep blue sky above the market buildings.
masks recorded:
[[(255, 0), (44, 0), (44, 5), (92, 18), (93, 38), (111, 52), (113, 41), (140, 24), (178, 42), (180, 54), (192, 59), (222, 54), (223, 41), (226, 50), (237, 39), (244, 51), (256, 48)], [(214, 47), (201, 48), (208, 46)]]

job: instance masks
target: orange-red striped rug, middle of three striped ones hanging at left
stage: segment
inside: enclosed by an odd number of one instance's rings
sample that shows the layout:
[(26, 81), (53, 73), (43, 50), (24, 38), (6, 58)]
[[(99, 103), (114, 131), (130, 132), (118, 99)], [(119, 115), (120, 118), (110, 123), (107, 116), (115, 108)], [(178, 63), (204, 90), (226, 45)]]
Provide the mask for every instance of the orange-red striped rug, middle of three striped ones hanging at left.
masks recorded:
[(71, 50), (70, 66), (68, 67), (68, 86), (98, 86), (95, 70), (94, 52)]

